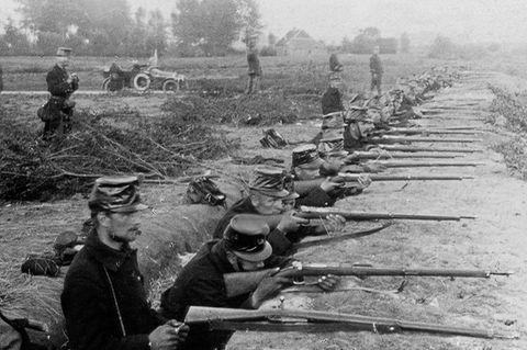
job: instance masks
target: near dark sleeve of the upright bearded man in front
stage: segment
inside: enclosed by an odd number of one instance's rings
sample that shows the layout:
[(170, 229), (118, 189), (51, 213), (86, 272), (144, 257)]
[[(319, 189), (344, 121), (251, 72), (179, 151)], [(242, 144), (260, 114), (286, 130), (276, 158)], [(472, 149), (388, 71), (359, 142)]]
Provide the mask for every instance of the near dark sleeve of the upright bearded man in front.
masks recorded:
[(109, 332), (114, 328), (116, 312), (108, 309), (104, 285), (83, 275), (71, 275), (60, 296), (66, 328), (71, 347), (77, 350), (147, 350), (148, 335), (116, 338)]

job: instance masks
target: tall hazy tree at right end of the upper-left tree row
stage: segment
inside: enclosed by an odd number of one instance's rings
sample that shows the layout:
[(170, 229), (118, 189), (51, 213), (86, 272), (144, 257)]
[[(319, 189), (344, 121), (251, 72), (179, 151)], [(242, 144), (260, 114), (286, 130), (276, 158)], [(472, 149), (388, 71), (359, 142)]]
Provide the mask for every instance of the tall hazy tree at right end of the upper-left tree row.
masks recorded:
[(180, 0), (172, 31), (182, 52), (225, 55), (244, 23), (236, 0)]

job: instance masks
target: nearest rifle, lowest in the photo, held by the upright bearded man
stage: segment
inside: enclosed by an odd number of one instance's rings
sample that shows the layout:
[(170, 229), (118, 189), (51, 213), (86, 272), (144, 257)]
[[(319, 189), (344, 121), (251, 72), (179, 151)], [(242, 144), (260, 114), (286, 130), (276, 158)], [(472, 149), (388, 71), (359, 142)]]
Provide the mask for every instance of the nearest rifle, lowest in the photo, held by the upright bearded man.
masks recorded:
[(368, 330), (375, 334), (423, 331), (439, 335), (486, 339), (518, 339), (518, 335), (497, 334), (486, 329), (413, 323), (395, 318), (301, 309), (238, 309), (190, 306), (184, 317), (188, 325), (206, 324), (216, 330), (253, 331), (349, 331)]

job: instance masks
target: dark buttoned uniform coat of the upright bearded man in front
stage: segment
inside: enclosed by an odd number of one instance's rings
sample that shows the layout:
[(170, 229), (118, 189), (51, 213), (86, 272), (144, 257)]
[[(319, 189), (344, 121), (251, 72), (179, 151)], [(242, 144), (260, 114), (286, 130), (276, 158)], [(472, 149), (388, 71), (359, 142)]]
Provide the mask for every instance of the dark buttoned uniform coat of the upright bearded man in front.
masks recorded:
[(112, 249), (91, 232), (66, 274), (60, 296), (70, 348), (149, 349), (148, 335), (165, 319), (149, 307), (146, 296), (137, 251), (128, 245), (121, 250)]

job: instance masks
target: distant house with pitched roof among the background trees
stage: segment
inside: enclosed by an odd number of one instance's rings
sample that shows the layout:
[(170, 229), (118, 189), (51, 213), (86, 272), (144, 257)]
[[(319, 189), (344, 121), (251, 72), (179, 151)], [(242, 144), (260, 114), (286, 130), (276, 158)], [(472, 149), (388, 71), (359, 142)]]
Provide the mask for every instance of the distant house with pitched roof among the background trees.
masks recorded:
[(327, 55), (327, 49), (323, 44), (315, 41), (305, 31), (294, 29), (289, 31), (276, 44), (278, 56), (318, 56)]

